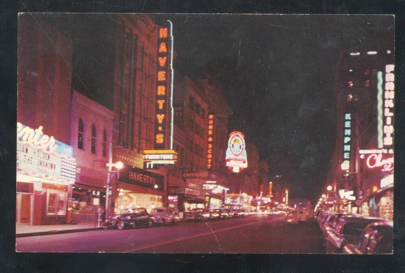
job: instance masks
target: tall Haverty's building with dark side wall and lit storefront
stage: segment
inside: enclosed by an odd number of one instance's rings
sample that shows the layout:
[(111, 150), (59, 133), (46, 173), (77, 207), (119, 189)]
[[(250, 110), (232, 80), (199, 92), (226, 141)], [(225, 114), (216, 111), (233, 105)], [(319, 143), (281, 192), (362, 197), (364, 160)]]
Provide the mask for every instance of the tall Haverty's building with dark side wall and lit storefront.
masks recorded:
[[(113, 175), (110, 181), (109, 212), (167, 204), (167, 168), (146, 170), (143, 160), (144, 150), (155, 149), (158, 109), (167, 109), (161, 113), (166, 118), (160, 130), (168, 135), (171, 130), (170, 107), (156, 99), (160, 93), (168, 94), (156, 92), (162, 78), (158, 62), (169, 67), (169, 57), (157, 57), (170, 51), (169, 44), (158, 42), (159, 31), (167, 24), (149, 15), (75, 16), (80, 23), (70, 35), (80, 38), (74, 40), (73, 88), (113, 111), (112, 161), (124, 163), (119, 177)], [(165, 74), (165, 80), (170, 77)], [(168, 143), (166, 138), (163, 146)]]

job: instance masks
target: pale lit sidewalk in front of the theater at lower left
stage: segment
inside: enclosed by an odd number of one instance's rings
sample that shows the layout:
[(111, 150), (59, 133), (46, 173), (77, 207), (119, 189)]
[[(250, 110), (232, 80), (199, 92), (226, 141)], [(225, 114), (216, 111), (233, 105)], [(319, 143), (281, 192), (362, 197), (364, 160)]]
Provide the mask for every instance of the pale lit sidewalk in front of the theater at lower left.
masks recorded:
[(50, 234), (102, 230), (98, 223), (53, 224), (53, 225), (22, 225), (16, 224), (16, 237), (28, 237)]

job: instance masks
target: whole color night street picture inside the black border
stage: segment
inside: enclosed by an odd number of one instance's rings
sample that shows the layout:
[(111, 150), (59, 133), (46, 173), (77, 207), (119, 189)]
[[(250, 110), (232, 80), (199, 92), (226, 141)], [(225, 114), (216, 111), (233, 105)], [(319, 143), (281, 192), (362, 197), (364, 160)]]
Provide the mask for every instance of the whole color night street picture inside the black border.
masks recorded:
[(392, 254), (394, 74), (392, 15), (22, 13), (16, 251)]

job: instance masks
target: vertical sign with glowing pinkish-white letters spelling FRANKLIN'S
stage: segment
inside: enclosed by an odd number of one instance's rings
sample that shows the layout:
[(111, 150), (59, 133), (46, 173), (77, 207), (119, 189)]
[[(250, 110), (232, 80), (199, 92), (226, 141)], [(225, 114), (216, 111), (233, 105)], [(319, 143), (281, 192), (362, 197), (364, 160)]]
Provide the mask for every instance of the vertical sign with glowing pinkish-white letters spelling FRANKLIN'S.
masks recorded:
[(384, 92), (384, 147), (393, 145), (394, 134), (394, 65), (385, 66), (385, 92)]

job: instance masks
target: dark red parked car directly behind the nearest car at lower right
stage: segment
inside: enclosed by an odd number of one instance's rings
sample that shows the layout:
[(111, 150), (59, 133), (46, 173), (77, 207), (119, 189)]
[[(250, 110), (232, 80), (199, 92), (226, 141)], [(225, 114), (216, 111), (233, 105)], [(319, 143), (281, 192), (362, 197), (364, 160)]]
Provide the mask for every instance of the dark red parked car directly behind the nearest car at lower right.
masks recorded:
[(345, 215), (340, 217), (335, 228), (329, 229), (327, 232), (327, 253), (342, 253), (346, 244), (357, 245), (362, 231), (368, 224), (384, 220), (382, 218), (362, 215)]

